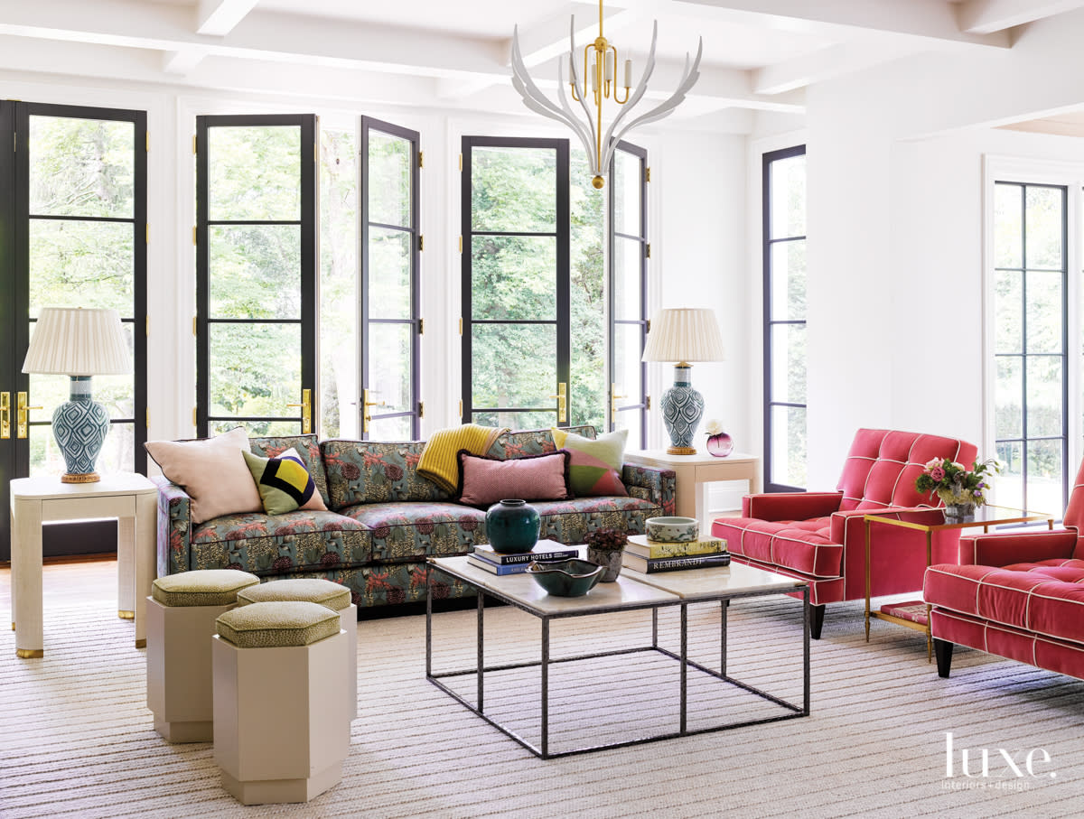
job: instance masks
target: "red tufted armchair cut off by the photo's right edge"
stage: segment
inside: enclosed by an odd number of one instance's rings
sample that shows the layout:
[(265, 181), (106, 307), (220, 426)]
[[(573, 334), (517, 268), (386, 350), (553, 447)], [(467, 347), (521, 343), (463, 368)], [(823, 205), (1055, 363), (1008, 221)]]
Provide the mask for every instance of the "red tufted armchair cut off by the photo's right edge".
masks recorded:
[(958, 644), (1084, 679), (1084, 465), (1063, 521), (1056, 532), (962, 537), (959, 564), (927, 570), (940, 676)]

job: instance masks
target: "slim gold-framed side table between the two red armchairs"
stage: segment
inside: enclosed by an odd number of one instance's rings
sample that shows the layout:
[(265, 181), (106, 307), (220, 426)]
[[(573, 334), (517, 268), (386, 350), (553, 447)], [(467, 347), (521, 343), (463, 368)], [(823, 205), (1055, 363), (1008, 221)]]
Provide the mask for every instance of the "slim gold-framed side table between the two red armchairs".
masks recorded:
[[(869, 621), (883, 620), (895, 623), (906, 628), (914, 628), (926, 633), (926, 662), (933, 662), (933, 635), (930, 632), (930, 604), (924, 600), (908, 600), (901, 603), (890, 603), (882, 606), (880, 611), (870, 611), (869, 608), (869, 526), (872, 523), (885, 523), (890, 526), (902, 526), (903, 529), (914, 529), (926, 533), (926, 566), (932, 562), (933, 558), (933, 533), (947, 529), (975, 529), (982, 526), (983, 532), (989, 532), (991, 526), (1006, 525), (1008, 523), (1027, 523), (1034, 520), (1045, 520), (1047, 529), (1054, 529), (1054, 516), (1046, 512), (1030, 512), (1025, 509), (1012, 509), (1007, 506), (979, 506), (975, 515), (966, 519), (945, 518), (944, 509), (922, 510), (932, 515), (940, 512), (940, 522), (916, 523), (908, 520), (898, 520), (883, 515), (865, 515), (863, 520), (866, 528), (866, 642), (869, 642)], [(925, 611), (922, 610), (925, 608)], [(893, 612), (906, 611), (909, 616), (901, 616)]]

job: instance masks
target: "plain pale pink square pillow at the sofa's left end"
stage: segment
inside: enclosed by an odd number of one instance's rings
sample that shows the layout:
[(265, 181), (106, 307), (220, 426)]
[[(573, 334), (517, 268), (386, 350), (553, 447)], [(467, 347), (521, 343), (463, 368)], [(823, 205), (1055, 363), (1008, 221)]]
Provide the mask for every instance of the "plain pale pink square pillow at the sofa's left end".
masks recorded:
[(192, 522), (237, 512), (263, 511), (245, 456), (244, 427), (202, 441), (147, 441), (147, 454), (162, 473), (192, 497)]

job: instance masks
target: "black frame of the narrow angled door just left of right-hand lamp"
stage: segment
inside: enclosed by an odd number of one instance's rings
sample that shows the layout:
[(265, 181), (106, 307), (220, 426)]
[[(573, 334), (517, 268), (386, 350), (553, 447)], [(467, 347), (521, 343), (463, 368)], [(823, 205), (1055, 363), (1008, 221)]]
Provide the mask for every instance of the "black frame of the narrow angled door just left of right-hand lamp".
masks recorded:
[[(607, 349), (609, 350), (609, 361), (608, 366), (610, 369), (609, 378), (606, 385), (606, 394), (609, 396), (608, 406), (606, 407), (607, 424), (610, 431), (617, 429), (617, 422), (614, 410), (614, 355), (615, 355), (615, 328), (618, 324), (621, 325), (636, 325), (641, 327), (640, 332), (640, 350), (643, 353), (644, 346), (647, 343), (647, 332), (648, 332), (648, 318), (647, 318), (647, 148), (641, 147), (640, 145), (633, 145), (631, 142), (618, 142), (617, 151), (621, 151), (625, 154), (631, 154), (640, 159), (640, 235), (633, 236), (628, 233), (618, 233), (614, 223), (615, 213), (615, 196), (617, 194), (617, 185), (614, 183), (614, 173), (617, 165), (617, 152), (615, 156), (610, 159), (610, 172), (609, 172), (609, 194), (608, 194), (608, 208), (609, 213), (606, 220), (609, 226), (608, 233), (608, 251), (607, 251), (607, 290), (608, 290), (608, 310), (610, 320), (607, 323)], [(615, 259), (616, 255), (616, 244), (617, 238), (633, 239), (640, 243), (640, 317), (636, 320), (615, 318), (615, 301), (614, 301), (614, 276), (616, 271)], [(629, 386), (624, 387), (625, 392), (629, 392)], [(627, 394), (624, 398), (631, 398)], [(647, 447), (647, 364), (644, 362), (640, 363), (640, 384), (637, 385), (636, 402), (632, 404), (624, 404), (618, 408), (618, 412), (632, 412), (635, 410), (640, 411), (640, 448)], [(633, 445), (636, 442), (631, 442)]]

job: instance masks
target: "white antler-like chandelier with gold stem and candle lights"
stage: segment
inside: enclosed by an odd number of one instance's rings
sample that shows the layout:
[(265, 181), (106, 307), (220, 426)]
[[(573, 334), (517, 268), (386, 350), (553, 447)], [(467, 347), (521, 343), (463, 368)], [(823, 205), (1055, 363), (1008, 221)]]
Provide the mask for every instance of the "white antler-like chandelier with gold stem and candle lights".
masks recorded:
[[(606, 184), (605, 171), (609, 168), (610, 158), (617, 143), (621, 141), (625, 133), (638, 125), (655, 122), (668, 116), (676, 108), (685, 95), (689, 92), (696, 81), (700, 78), (700, 54), (704, 52), (704, 39), (697, 43), (696, 58), (689, 63), (688, 54), (685, 55), (685, 72), (678, 90), (666, 102), (656, 105), (650, 110), (641, 114), (627, 123), (622, 123), (625, 116), (633, 106), (640, 102), (644, 92), (647, 91), (647, 81), (655, 70), (655, 41), (658, 39), (659, 24), (655, 22), (651, 29), (651, 50), (647, 54), (647, 64), (644, 66), (644, 76), (640, 78), (640, 84), (632, 90), (632, 61), (624, 61), (624, 99), (618, 96), (617, 84), (617, 48), (603, 36), (603, 0), (598, 0), (598, 37), (594, 42), (583, 48), (583, 74), (577, 68), (576, 49), (576, 17), (571, 20), (569, 26), (569, 42), (571, 49), (568, 57), (557, 62), (557, 103), (550, 100), (530, 78), (527, 66), (524, 64), (524, 55), (519, 50), (519, 27), (516, 26), (512, 34), (512, 84), (524, 98), (524, 104), (543, 117), (556, 119), (571, 128), (576, 135), (583, 143), (583, 150), (588, 153), (591, 162), (591, 172), (594, 179), (591, 183), (595, 187)], [(565, 93), (565, 63), (568, 64), (570, 76), (568, 79), (571, 89), (572, 101), (578, 102), (585, 116), (585, 121), (580, 120), (572, 105)], [(590, 78), (590, 79), (589, 79)], [(594, 100), (594, 105), (589, 105), (589, 94)], [(603, 135), (603, 102), (610, 100), (621, 106), (617, 116), (609, 123)]]

